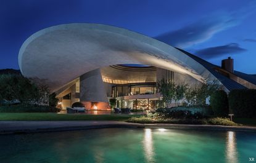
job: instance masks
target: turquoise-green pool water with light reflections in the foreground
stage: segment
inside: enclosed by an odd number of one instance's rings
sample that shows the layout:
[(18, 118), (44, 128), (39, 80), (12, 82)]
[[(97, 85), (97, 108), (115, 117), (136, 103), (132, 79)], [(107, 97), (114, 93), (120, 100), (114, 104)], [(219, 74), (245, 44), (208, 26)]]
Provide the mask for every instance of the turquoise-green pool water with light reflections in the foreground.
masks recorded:
[(92, 129), (0, 136), (0, 162), (249, 162), (256, 133)]

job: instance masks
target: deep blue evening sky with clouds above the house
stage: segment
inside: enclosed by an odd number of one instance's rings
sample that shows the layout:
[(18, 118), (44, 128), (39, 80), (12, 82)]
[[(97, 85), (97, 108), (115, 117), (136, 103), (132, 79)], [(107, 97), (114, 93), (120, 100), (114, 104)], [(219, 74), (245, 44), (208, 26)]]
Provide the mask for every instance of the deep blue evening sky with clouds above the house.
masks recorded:
[(31, 34), (63, 23), (103, 23), (146, 34), (220, 65), (256, 74), (254, 0), (1, 0), (0, 69), (19, 69), (20, 46)]

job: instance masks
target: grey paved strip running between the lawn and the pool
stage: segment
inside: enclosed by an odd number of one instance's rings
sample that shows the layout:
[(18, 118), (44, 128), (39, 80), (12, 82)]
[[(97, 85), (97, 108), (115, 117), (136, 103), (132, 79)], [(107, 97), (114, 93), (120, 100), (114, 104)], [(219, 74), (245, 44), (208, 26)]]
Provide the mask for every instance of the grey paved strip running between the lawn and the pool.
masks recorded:
[(135, 124), (121, 121), (0, 121), (0, 134), (57, 132), (102, 128), (214, 129), (256, 132), (256, 127), (188, 124)]

